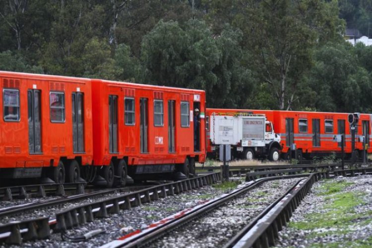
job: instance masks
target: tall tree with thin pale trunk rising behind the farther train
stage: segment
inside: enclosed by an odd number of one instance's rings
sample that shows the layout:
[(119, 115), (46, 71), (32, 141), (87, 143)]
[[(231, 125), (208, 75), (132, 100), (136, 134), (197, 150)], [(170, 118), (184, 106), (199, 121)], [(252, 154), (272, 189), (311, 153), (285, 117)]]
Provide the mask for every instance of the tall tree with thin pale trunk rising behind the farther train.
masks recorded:
[(341, 38), (336, 1), (229, 0), (210, 6), (210, 20), (222, 15), (243, 31), (242, 44), (253, 55), (249, 66), (270, 85), (281, 110), (298, 99), (317, 43)]

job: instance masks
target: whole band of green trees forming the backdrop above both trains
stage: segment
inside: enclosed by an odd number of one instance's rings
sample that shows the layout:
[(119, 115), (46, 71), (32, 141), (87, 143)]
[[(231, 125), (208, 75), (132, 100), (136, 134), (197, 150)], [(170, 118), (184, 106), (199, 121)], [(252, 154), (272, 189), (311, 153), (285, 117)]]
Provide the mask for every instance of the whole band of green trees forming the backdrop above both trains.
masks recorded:
[(341, 34), (343, 19), (371, 33), (371, 12), (360, 0), (0, 0), (0, 69), (203, 89), (215, 108), (369, 113), (372, 47)]

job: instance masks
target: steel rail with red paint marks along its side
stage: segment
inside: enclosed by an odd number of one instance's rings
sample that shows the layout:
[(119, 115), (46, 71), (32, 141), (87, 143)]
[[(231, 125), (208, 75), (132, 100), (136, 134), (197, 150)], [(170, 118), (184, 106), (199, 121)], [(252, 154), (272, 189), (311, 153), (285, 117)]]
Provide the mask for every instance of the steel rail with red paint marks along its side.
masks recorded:
[(143, 247), (146, 244), (150, 243), (153, 240), (158, 239), (159, 237), (169, 233), (170, 231), (185, 225), (186, 223), (192, 221), (195, 218), (198, 218), (206, 213), (212, 211), (213, 209), (227, 203), (228, 201), (239, 197), (240, 195), (246, 193), (247, 191), (259, 186), (267, 181), (277, 180), (277, 179), (284, 179), (284, 178), (297, 178), (297, 177), (304, 177), (309, 176), (309, 174), (296, 174), (296, 175), (286, 175), (286, 176), (277, 176), (277, 177), (270, 177), (270, 178), (262, 178), (256, 181), (250, 182), (247, 186), (237, 188), (233, 190), (231, 193), (224, 195), (221, 198), (217, 198), (214, 200), (206, 201), (205, 203), (198, 205), (194, 209), (187, 209), (186, 211), (182, 211), (173, 217), (167, 218), (167, 220), (161, 220), (159, 223), (153, 223), (148, 226), (147, 229), (144, 230), (137, 230), (132, 234), (128, 234), (119, 240), (110, 242), (101, 248), (132, 248), (132, 247)]

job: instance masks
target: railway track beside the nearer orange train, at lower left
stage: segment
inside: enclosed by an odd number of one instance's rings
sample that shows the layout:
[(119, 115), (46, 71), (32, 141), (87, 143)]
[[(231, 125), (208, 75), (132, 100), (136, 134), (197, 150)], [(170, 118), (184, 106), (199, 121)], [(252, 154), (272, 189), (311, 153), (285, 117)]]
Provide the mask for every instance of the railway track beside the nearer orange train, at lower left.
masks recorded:
[[(0, 241), (6, 244), (22, 244), (22, 242), (45, 239), (50, 237), (51, 230), (54, 232), (65, 232), (67, 229), (78, 225), (92, 222), (94, 218), (105, 218), (109, 214), (118, 213), (124, 209), (141, 205), (145, 202), (158, 200), (167, 195), (179, 194), (193, 188), (203, 187), (216, 183), (219, 180), (219, 174), (210, 173), (193, 179), (187, 179), (169, 184), (150, 186), (145, 189), (134, 192), (119, 193), (115, 196), (108, 195), (110, 192), (118, 189), (107, 189), (99, 192), (90, 192), (81, 195), (67, 197), (65, 199), (51, 200), (38, 204), (14, 207), (12, 209), (0, 210), (0, 219), (2, 221), (9, 216), (19, 216), (22, 220), (9, 220), (12, 222), (0, 225)], [(105, 196), (100, 199), (92, 200), (93, 196)], [(66, 203), (71, 201), (80, 201), (88, 199), (84, 204), (78, 203), (74, 206), (65, 207)], [(35, 211), (40, 208), (48, 208), (60, 205), (60, 210), (48, 210), (49, 214), (43, 217), (33, 216), (25, 218), (25, 212)]]

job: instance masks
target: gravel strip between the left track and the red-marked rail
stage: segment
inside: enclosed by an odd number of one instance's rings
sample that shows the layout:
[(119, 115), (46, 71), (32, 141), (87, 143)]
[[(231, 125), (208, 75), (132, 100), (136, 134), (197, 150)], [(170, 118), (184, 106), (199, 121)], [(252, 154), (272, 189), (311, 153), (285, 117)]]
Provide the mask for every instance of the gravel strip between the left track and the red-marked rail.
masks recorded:
[(79, 247), (95, 248), (104, 245), (112, 240), (131, 233), (138, 229), (146, 228), (149, 224), (166, 218), (169, 215), (194, 206), (199, 202), (210, 199), (223, 193), (224, 191), (212, 186), (204, 186), (196, 190), (160, 198), (158, 201), (145, 203), (142, 206), (123, 210), (120, 214), (110, 214), (108, 218), (95, 218), (93, 222), (81, 227), (67, 230), (66, 234), (70, 237), (77, 237), (92, 230), (103, 229), (103, 234), (94, 236), (86, 242), (72, 243), (63, 241), (61, 234), (52, 234), (48, 240), (28, 242), (25, 245), (30, 247)]

